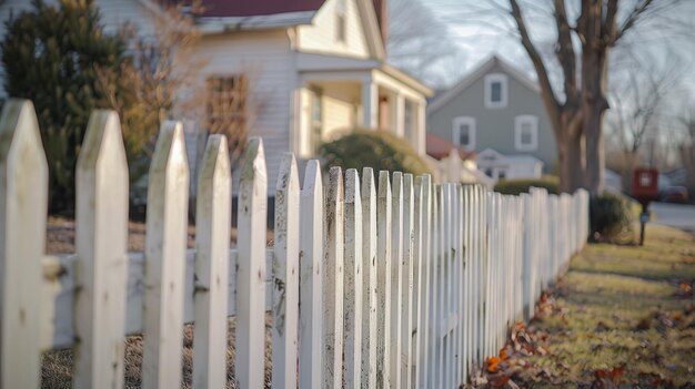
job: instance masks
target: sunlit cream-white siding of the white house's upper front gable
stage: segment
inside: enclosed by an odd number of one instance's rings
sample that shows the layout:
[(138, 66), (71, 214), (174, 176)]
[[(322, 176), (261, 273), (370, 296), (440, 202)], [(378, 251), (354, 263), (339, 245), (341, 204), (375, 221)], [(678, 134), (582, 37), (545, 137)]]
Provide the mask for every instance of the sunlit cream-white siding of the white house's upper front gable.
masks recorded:
[(312, 25), (299, 27), (299, 50), (369, 58), (369, 47), (355, 0), (345, 1), (345, 42), (335, 38), (335, 6), (340, 0), (329, 0), (314, 17)]

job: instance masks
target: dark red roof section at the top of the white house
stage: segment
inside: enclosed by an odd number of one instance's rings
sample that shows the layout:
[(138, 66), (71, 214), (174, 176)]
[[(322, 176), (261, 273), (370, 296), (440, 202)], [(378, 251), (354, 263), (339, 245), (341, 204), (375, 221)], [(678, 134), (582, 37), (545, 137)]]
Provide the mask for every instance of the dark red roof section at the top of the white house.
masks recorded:
[(202, 17), (255, 17), (263, 14), (318, 11), (325, 0), (202, 0)]

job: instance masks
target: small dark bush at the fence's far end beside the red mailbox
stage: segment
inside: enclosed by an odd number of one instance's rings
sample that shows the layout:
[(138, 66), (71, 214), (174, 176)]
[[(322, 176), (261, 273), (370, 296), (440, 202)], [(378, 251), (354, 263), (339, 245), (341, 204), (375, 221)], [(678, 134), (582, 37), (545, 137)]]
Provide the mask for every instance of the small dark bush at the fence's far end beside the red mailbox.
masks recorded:
[(632, 240), (632, 204), (625, 197), (604, 192), (590, 201), (591, 239), (594, 242)]

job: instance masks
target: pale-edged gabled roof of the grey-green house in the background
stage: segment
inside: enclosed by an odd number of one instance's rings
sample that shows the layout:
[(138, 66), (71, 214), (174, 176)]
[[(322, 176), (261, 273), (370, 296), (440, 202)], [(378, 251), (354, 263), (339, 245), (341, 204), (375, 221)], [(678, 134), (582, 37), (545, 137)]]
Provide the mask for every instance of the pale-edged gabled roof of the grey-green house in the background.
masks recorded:
[(490, 73), (490, 71), (497, 64), (506, 74), (513, 76), (520, 83), (522, 83), (530, 90), (535, 91), (536, 93), (541, 93), (541, 89), (535, 81), (528, 79), (526, 74), (516, 69), (514, 65), (503, 61), (496, 55), (493, 55), (490, 60), (486, 60), (482, 65), (477, 66), (474, 71), (465, 75), (454, 86), (450, 88), (447, 91), (443, 92), (439, 96), (435, 96), (432, 100), (432, 103), (430, 103), (427, 106), (427, 113), (435, 112), (444, 106), (454, 98), (463, 93), (463, 91), (465, 91), (469, 86), (473, 85), (474, 82), (483, 78), (485, 74)]

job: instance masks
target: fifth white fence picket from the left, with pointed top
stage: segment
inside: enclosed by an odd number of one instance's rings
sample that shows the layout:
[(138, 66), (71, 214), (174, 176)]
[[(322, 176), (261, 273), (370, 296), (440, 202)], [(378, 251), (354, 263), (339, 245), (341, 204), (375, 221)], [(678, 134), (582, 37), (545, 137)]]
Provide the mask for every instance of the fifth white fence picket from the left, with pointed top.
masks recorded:
[(238, 203), (236, 387), (262, 388), (265, 377), (265, 217), (268, 182), (261, 139), (249, 141)]

